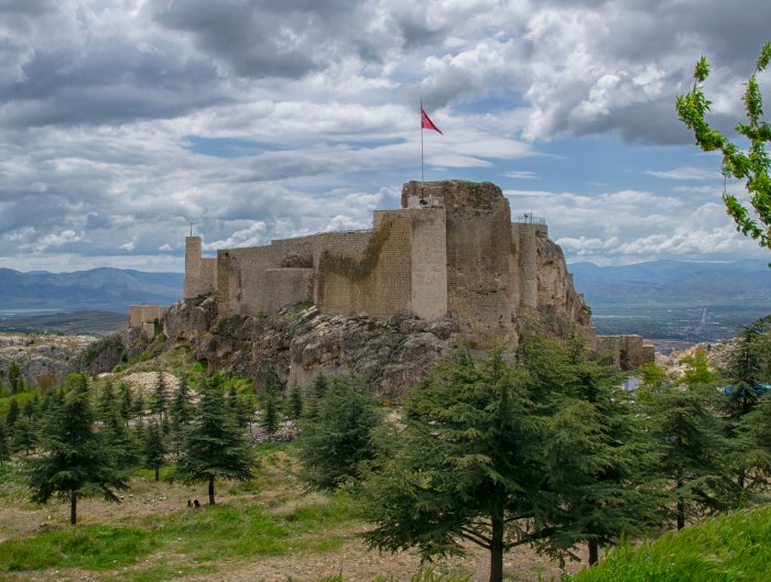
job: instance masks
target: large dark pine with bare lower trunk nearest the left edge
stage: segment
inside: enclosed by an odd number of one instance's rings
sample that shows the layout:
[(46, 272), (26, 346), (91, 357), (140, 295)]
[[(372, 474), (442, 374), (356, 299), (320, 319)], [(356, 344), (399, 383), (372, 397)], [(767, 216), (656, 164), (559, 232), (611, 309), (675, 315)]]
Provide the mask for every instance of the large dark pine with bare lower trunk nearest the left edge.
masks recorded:
[(46, 503), (56, 495), (69, 499), (69, 523), (77, 523), (77, 501), (101, 493), (118, 502), (115, 488), (127, 488), (108, 448), (94, 425), (87, 385), (75, 387), (64, 404), (50, 413), (43, 433), (45, 454), (31, 459), (26, 479), (32, 499)]

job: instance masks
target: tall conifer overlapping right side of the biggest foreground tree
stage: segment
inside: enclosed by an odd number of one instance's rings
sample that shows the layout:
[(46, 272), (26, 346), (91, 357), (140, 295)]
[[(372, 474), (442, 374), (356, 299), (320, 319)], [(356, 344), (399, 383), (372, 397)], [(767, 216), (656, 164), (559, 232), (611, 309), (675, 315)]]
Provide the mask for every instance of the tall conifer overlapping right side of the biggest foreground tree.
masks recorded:
[[(591, 565), (598, 561), (600, 545), (616, 543), (622, 535), (641, 535), (655, 525), (662, 495), (650, 477), (656, 458), (647, 439), (648, 427), (634, 402), (618, 387), (618, 374), (583, 358), (571, 367), (575, 384), (555, 414), (555, 433), (545, 447), (551, 452), (544, 454), (551, 462), (550, 486), (565, 509), (561, 518), (567, 537), (561, 545), (586, 541)], [(564, 481), (557, 483), (561, 476)]]

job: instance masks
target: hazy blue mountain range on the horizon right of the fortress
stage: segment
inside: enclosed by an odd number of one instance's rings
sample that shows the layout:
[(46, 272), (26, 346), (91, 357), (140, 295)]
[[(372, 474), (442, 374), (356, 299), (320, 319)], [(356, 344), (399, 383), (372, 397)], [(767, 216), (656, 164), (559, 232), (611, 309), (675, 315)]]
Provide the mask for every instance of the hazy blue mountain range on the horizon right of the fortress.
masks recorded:
[(771, 268), (763, 261), (654, 261), (604, 267), (574, 263), (568, 271), (573, 273), (576, 290), (593, 307), (618, 304), (709, 307), (751, 301), (765, 303), (771, 311)]

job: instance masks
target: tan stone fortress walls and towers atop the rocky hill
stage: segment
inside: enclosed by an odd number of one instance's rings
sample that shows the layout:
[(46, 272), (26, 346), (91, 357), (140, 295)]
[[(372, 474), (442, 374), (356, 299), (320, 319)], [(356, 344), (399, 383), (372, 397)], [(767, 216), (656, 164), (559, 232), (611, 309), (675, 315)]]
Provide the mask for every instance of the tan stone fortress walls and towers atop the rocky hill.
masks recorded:
[(184, 297), (215, 293), (218, 318), (298, 301), (379, 320), (403, 311), (427, 321), (449, 316), (476, 345), (515, 337), (541, 312), (569, 319), (595, 341), (591, 312), (546, 224), (529, 216), (512, 222), (496, 185), (410, 182), (401, 201), (401, 209), (376, 210), (371, 230), (220, 250), (216, 259), (202, 256), (199, 237), (187, 237)]

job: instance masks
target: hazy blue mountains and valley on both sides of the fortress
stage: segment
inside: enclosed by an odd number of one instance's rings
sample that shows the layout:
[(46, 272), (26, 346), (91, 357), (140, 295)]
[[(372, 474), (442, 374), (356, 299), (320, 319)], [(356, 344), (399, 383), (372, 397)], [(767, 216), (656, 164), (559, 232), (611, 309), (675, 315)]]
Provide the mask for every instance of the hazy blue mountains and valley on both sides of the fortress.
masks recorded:
[[(600, 333), (716, 341), (771, 312), (771, 268), (763, 261), (655, 261), (605, 267), (574, 263), (568, 270), (576, 290), (591, 307)], [(170, 305), (182, 297), (183, 278), (182, 273), (106, 267), (59, 274), (0, 268), (0, 319), (12, 326), (68, 331), (79, 323), (45, 315), (84, 310), (126, 314), (132, 304)], [(24, 319), (30, 315), (35, 317)], [(87, 322), (105, 319), (104, 326), (116, 328), (123, 321), (94, 314), (84, 317)], [(84, 329), (90, 332), (93, 326)]]

